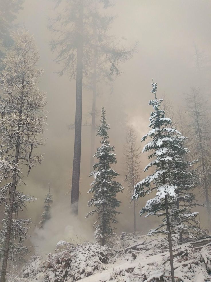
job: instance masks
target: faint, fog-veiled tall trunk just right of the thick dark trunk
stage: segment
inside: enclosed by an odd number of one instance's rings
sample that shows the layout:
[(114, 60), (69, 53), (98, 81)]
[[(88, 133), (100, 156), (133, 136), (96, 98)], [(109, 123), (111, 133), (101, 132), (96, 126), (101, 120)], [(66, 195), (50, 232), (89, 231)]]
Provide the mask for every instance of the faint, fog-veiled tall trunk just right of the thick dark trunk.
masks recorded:
[(91, 155), (90, 155), (90, 171), (94, 164), (95, 154), (95, 117), (96, 117), (96, 81), (97, 81), (97, 42), (95, 42), (94, 50), (94, 68), (93, 68), (93, 96), (91, 110)]

